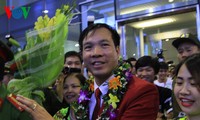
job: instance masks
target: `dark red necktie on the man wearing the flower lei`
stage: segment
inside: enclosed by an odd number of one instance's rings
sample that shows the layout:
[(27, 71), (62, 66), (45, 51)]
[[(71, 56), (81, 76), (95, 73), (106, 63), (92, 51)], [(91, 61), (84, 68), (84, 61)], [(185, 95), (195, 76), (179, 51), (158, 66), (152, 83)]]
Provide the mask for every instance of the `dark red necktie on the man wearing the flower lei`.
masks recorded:
[(101, 104), (101, 97), (100, 96), (101, 96), (101, 91), (99, 90), (99, 88), (97, 88), (95, 90), (96, 106), (94, 108), (92, 120), (96, 120), (98, 118), (98, 113), (99, 113), (100, 104)]

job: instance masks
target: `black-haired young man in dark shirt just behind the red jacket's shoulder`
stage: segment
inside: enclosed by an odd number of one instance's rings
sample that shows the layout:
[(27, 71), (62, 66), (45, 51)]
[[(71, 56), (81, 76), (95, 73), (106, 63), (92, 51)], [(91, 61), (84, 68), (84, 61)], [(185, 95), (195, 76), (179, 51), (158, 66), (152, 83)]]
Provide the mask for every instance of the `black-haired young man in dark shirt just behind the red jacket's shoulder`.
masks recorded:
[[(140, 57), (136, 64), (136, 74), (139, 78), (146, 80), (153, 84), (155, 77), (160, 69), (160, 64), (157, 58), (151, 56)], [(172, 108), (172, 91), (168, 88), (160, 87), (156, 85), (159, 92), (159, 112), (156, 120), (165, 120), (173, 118)]]

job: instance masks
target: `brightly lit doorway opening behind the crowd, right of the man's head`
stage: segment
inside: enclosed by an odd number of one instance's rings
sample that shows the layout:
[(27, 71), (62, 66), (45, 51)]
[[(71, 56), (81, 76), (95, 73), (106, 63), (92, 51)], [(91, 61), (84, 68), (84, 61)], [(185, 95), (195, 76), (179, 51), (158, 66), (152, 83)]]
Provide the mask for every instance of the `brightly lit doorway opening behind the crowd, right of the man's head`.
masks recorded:
[(197, 34), (196, 14), (194, 7), (140, 18), (142, 20), (129, 19), (118, 22), (119, 28), (125, 31), (122, 39), (126, 45), (126, 58), (139, 58), (143, 55), (155, 57), (162, 49), (166, 61), (178, 63), (177, 51), (171, 43), (183, 33)]

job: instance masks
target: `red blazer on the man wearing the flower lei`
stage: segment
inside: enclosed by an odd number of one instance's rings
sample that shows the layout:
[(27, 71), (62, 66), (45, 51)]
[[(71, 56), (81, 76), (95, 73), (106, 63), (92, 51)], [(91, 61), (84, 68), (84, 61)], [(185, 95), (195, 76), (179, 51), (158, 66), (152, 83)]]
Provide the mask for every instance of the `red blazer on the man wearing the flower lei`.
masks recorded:
[(133, 77), (118, 107), (118, 120), (156, 120), (159, 94), (156, 86)]

